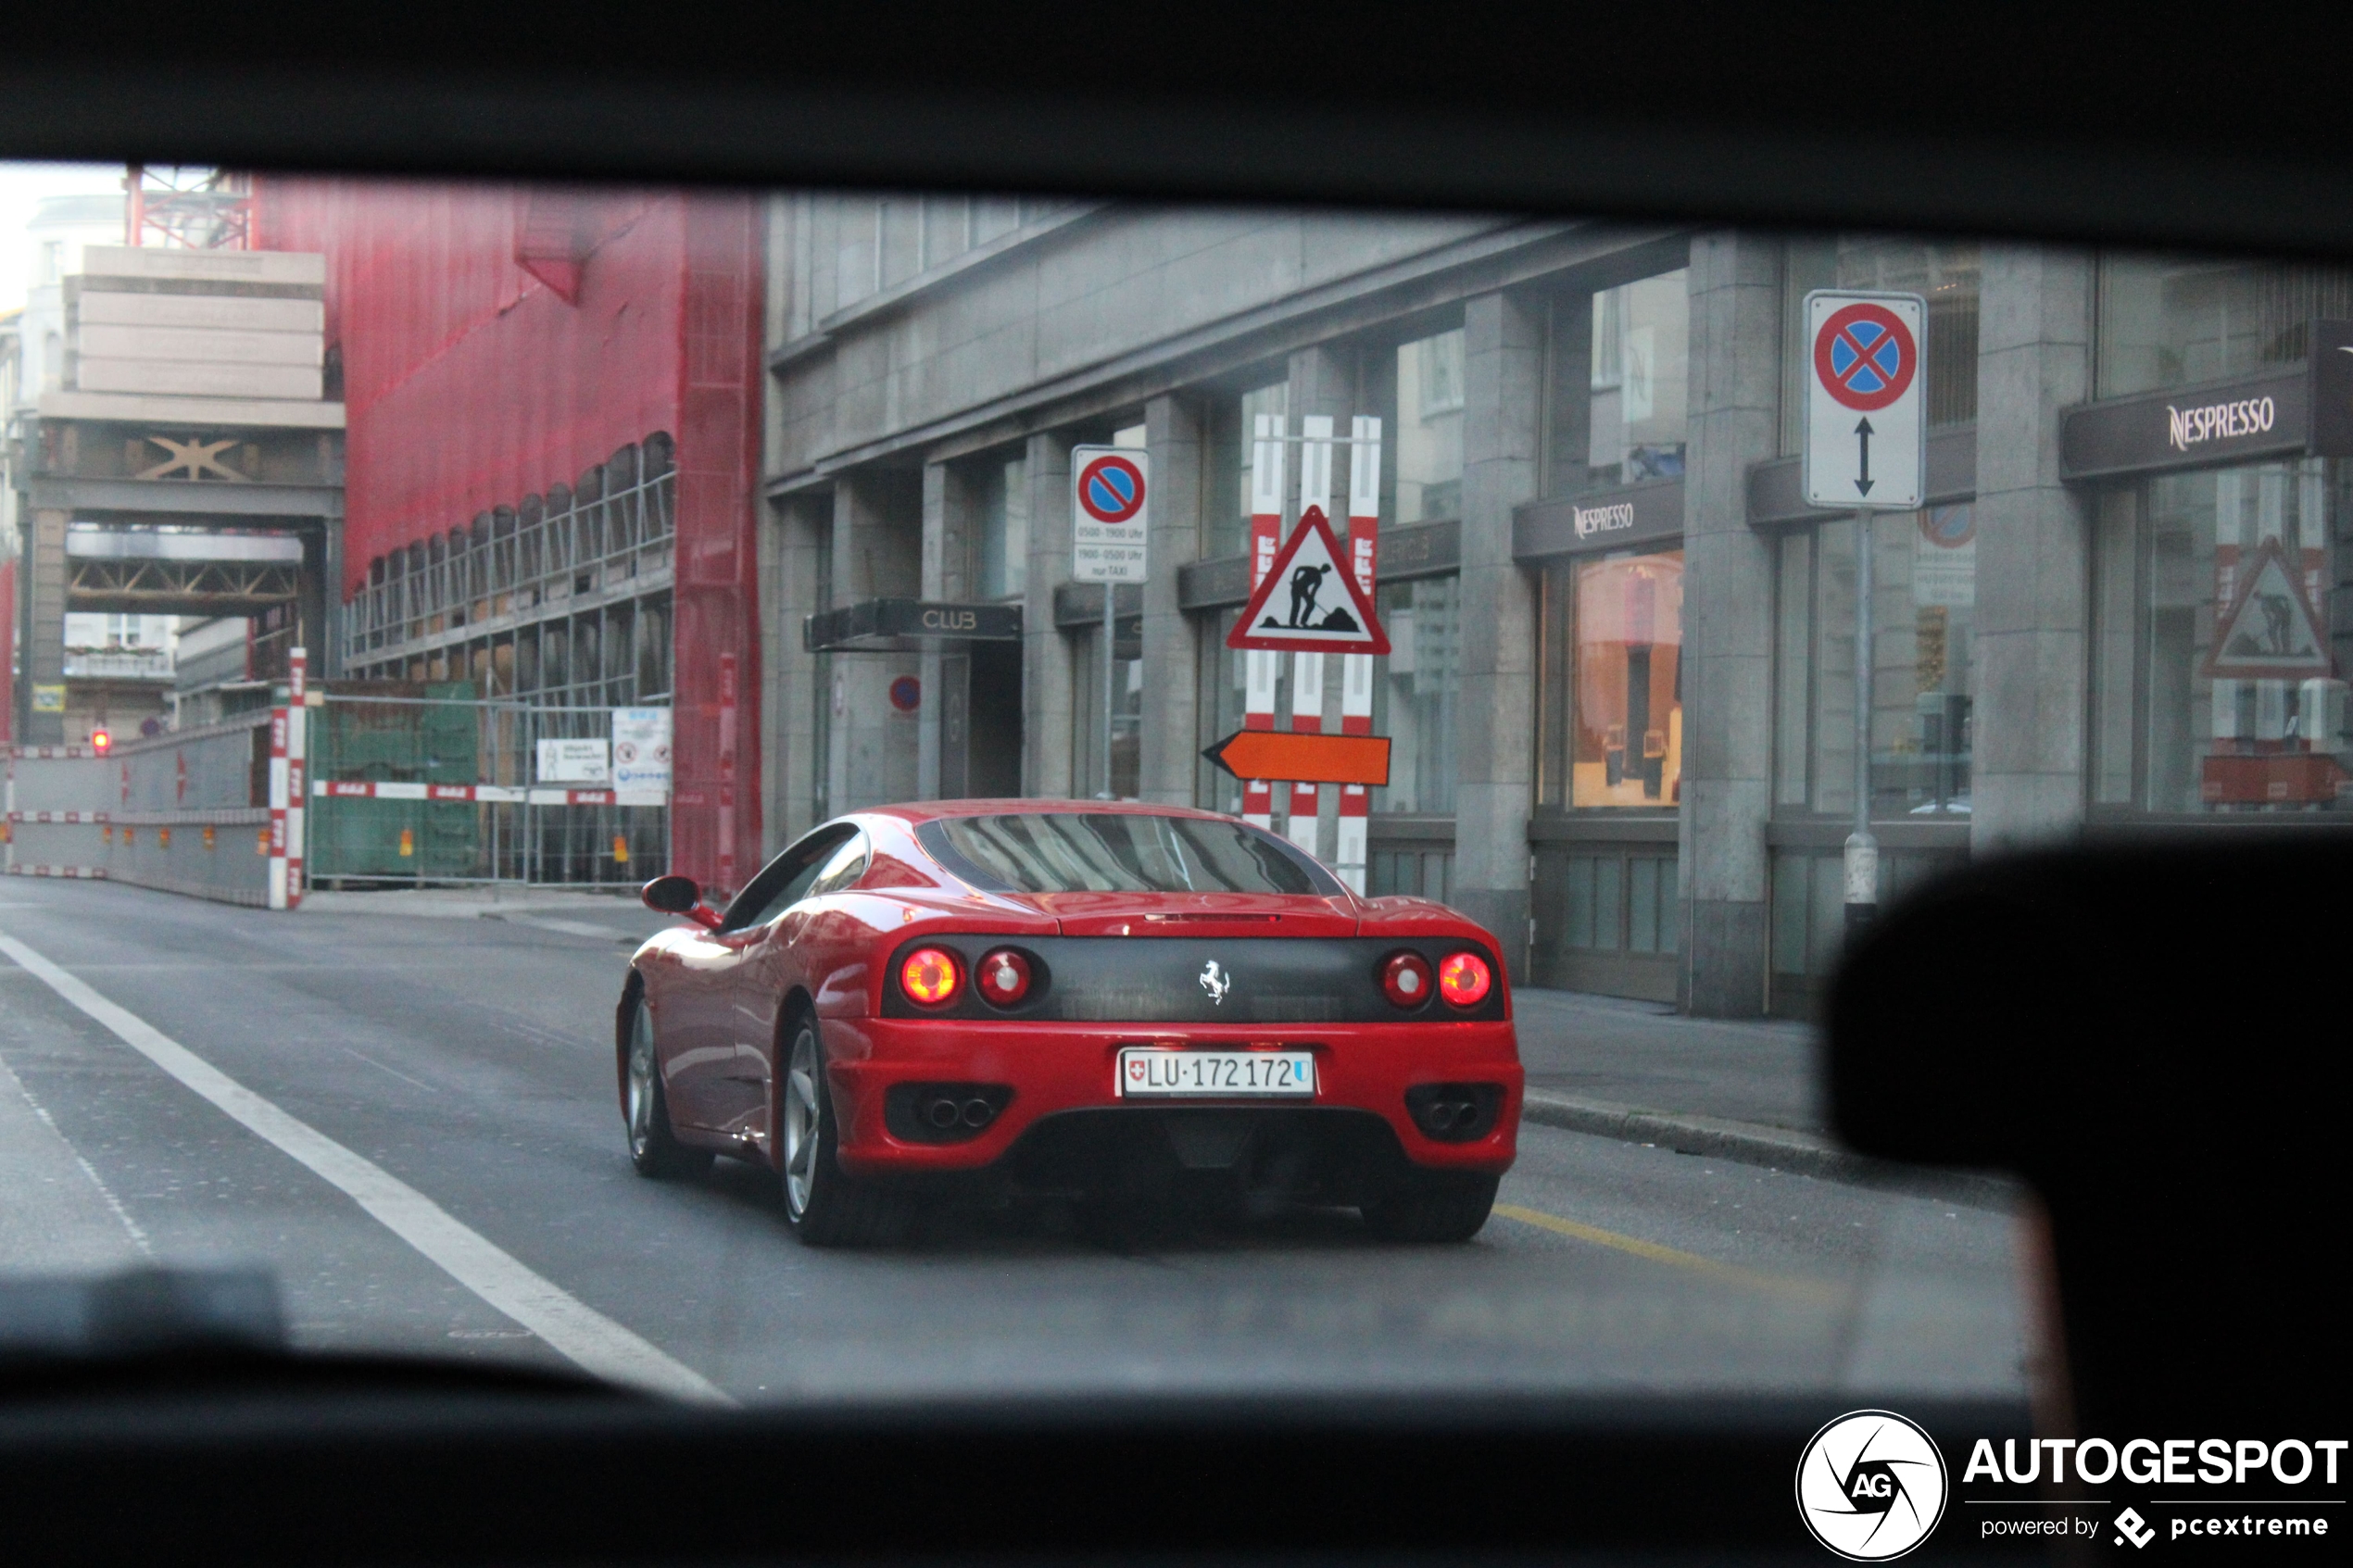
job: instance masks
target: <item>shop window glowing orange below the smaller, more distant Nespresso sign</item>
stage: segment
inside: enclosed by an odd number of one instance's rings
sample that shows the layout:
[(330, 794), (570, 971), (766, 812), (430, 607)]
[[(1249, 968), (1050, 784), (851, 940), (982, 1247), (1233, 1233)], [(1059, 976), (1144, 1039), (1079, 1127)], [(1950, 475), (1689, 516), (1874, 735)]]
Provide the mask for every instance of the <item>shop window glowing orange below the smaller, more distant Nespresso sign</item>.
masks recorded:
[(1569, 804), (1682, 799), (1682, 550), (1577, 562)]

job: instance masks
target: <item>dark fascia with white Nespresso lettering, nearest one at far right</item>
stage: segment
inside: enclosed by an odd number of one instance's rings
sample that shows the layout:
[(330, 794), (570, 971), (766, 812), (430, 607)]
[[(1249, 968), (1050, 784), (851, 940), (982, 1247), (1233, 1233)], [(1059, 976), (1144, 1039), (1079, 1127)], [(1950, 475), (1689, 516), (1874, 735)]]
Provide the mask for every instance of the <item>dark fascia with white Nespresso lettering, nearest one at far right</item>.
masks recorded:
[(2066, 409), (2059, 416), (2059, 477), (2353, 456), (2353, 322), (2313, 322), (2308, 348), (2304, 364)]

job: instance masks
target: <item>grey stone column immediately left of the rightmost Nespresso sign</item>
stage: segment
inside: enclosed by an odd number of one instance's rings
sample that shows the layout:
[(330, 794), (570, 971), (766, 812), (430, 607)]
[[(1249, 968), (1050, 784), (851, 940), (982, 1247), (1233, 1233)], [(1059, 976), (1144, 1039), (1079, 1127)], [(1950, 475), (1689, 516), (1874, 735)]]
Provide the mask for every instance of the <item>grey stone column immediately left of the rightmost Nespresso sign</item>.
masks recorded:
[(2089, 548), (2059, 409), (2092, 395), (2092, 256), (1986, 244), (1977, 315), (1977, 705), (1969, 849), (2082, 823)]

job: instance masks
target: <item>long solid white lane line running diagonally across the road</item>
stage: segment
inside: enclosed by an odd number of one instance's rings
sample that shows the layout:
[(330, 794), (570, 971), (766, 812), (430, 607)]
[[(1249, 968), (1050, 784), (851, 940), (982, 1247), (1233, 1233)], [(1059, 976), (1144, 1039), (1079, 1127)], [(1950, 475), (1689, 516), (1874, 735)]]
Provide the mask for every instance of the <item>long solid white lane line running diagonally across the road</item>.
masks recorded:
[(136, 1013), (115, 1006), (16, 938), (0, 936), (0, 952), (59, 997), (113, 1030), (132, 1051), (169, 1072), (205, 1100), (212, 1100), (212, 1105), (249, 1133), (275, 1145), (327, 1185), (348, 1194), (376, 1222), (414, 1246), (461, 1286), (536, 1333), (591, 1375), (694, 1403), (734, 1403), (734, 1399), (722, 1394), (701, 1373), (541, 1279), (487, 1237), (452, 1218), (449, 1211), (424, 1192), (416, 1192), (416, 1187), (409, 1187), (384, 1166), (353, 1154), (308, 1121), (278, 1110), (245, 1084), (238, 1084)]

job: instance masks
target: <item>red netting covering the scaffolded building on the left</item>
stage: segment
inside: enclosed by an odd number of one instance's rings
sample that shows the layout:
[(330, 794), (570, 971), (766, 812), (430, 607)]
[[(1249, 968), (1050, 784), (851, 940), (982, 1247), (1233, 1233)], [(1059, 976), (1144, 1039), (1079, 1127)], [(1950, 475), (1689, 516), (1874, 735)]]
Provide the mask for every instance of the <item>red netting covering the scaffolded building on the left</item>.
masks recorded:
[(736, 886), (760, 858), (758, 202), (266, 176), (254, 228), (327, 256), (346, 604), (426, 541), (668, 454), (671, 863)]

